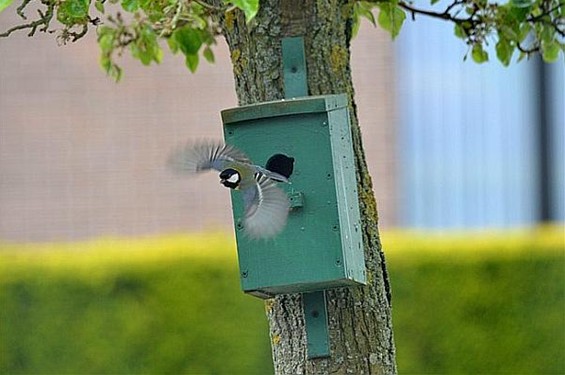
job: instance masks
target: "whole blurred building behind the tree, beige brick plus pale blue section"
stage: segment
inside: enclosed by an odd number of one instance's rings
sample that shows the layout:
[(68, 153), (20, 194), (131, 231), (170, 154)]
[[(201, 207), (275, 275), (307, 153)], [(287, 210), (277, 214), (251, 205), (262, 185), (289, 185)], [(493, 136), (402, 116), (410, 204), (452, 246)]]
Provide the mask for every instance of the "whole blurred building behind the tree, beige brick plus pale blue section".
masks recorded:
[[(9, 13), (0, 29), (17, 21)], [(352, 49), (383, 227), (565, 219), (562, 62), (463, 62), (449, 25), (424, 19), (395, 42), (365, 24)], [(221, 138), (219, 113), (237, 105), (222, 41), (215, 53), (194, 75), (178, 56), (150, 68), (125, 57), (116, 84), (93, 33), (61, 47), (53, 35), (0, 39), (0, 239), (232, 230), (217, 176), (165, 166), (175, 145)]]

